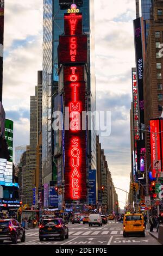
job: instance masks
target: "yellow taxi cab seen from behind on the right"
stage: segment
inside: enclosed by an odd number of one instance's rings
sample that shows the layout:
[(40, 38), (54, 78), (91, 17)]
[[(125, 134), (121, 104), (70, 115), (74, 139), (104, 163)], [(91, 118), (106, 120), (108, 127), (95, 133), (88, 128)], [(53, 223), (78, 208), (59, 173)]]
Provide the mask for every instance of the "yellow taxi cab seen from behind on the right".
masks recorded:
[(142, 214), (125, 214), (123, 218), (123, 237), (140, 234), (145, 237), (145, 225)]

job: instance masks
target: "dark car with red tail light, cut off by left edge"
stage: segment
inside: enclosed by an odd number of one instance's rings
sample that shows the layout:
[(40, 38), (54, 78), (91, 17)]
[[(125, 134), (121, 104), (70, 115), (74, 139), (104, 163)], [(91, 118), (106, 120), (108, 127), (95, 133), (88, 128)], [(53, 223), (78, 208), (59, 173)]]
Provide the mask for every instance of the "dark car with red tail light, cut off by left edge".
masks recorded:
[(0, 243), (3, 243), (4, 240), (9, 240), (16, 244), (18, 239), (21, 242), (26, 241), (24, 228), (13, 218), (0, 220)]

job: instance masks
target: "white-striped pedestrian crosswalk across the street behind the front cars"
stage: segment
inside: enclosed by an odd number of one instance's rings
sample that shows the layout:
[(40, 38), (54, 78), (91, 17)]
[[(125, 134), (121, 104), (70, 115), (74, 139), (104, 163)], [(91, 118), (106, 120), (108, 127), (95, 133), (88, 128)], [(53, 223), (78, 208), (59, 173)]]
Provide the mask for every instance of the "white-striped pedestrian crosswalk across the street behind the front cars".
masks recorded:
[[(123, 231), (120, 229), (118, 230), (112, 230), (112, 229), (107, 229), (107, 230), (98, 230), (98, 231), (94, 231), (93, 230), (89, 230), (89, 231), (69, 231), (69, 235), (71, 236), (100, 236), (100, 235), (122, 235)], [(26, 233), (26, 237), (38, 237), (39, 236), (39, 232), (29, 232)]]

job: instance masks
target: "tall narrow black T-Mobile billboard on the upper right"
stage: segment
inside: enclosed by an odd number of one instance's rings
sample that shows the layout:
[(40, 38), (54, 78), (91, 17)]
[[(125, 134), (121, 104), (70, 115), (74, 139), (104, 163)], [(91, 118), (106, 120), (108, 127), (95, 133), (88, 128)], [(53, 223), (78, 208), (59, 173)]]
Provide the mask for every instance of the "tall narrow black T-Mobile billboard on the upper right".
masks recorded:
[(145, 33), (143, 18), (134, 20), (135, 59), (139, 92), (140, 123), (144, 124), (143, 65), (145, 62)]

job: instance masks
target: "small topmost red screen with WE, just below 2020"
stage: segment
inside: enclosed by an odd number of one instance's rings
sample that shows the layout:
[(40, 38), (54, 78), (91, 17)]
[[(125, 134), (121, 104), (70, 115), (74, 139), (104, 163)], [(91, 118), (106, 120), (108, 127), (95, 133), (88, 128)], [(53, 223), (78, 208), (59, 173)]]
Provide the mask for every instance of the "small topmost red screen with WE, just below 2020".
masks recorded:
[(65, 35), (82, 35), (82, 14), (65, 14)]

